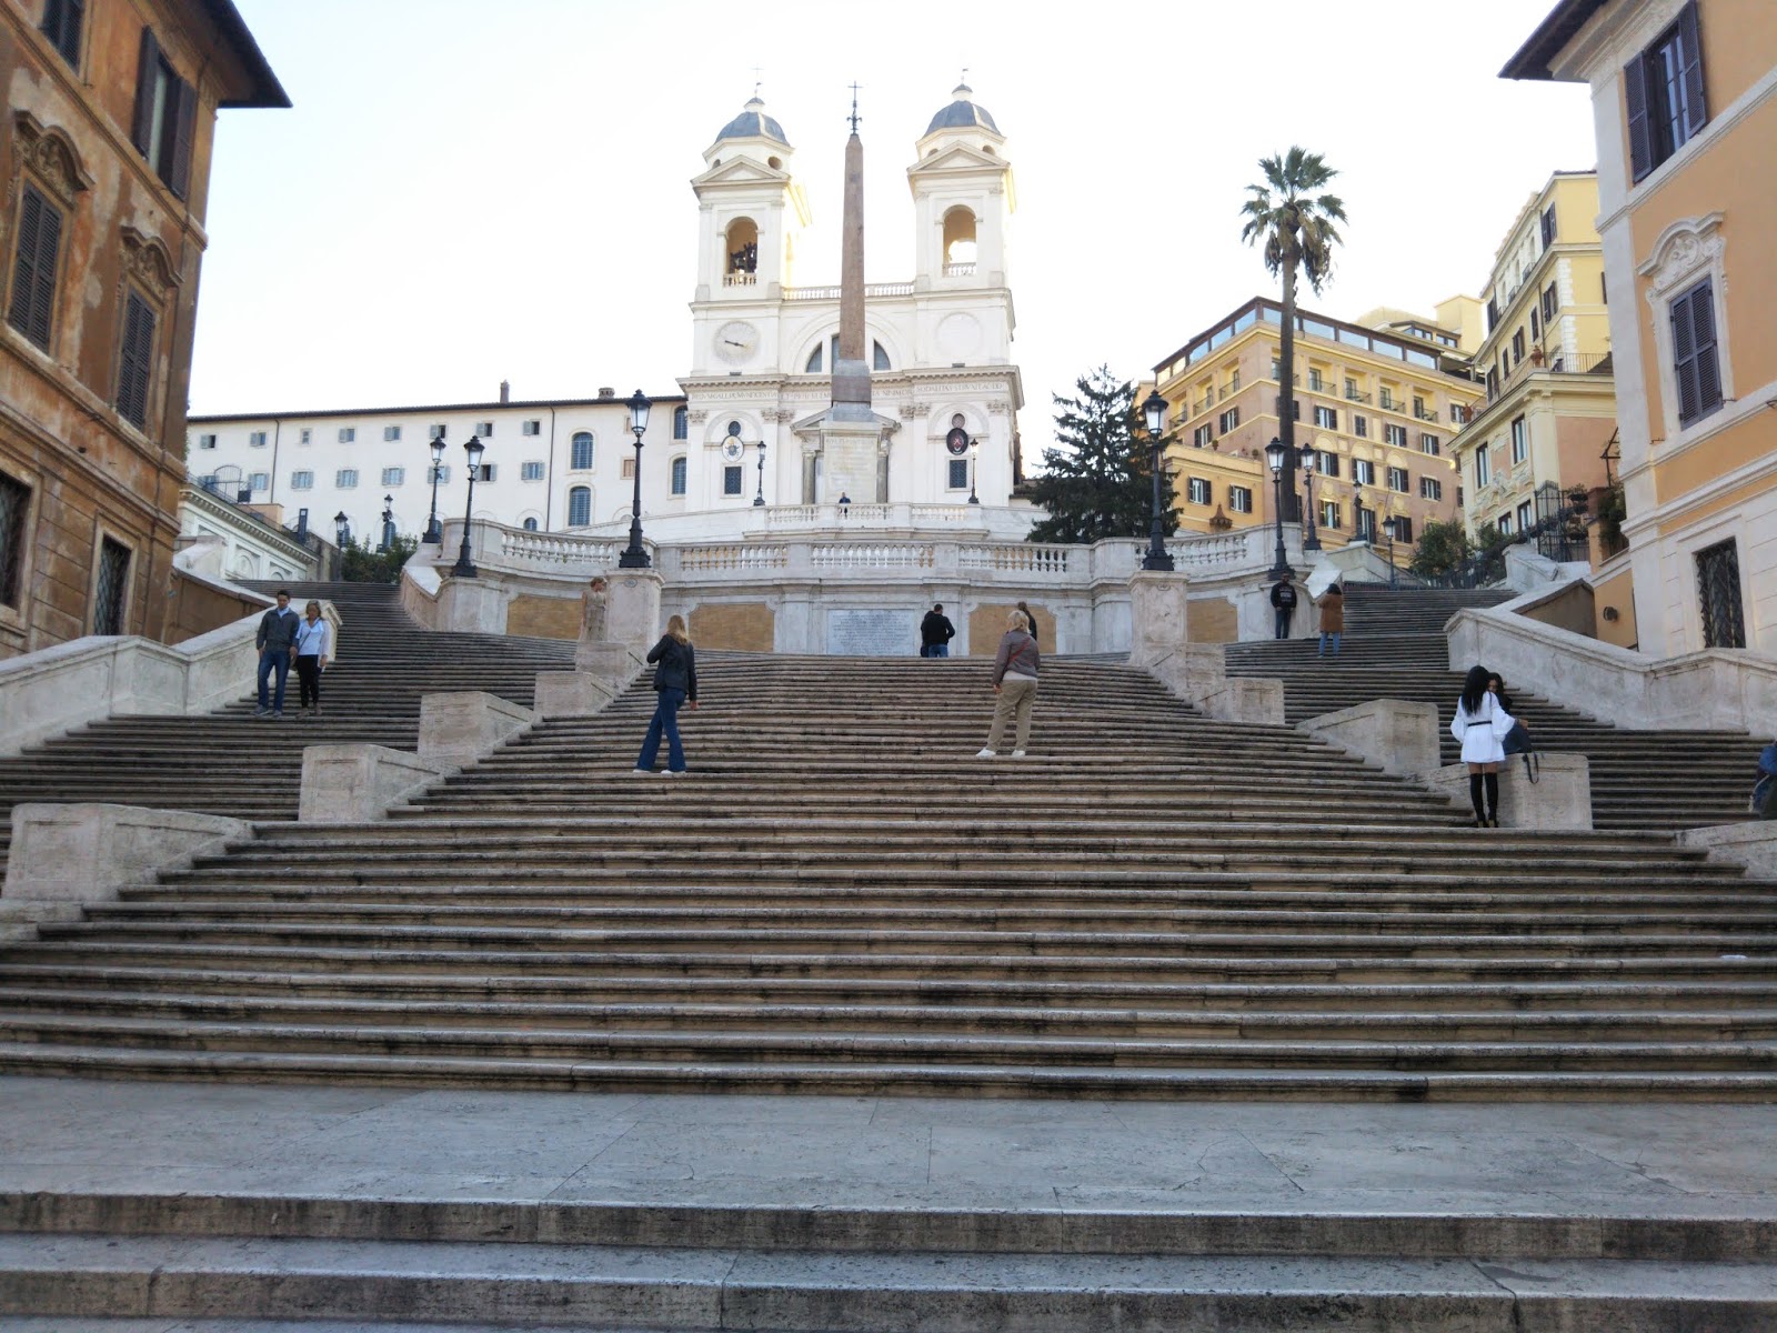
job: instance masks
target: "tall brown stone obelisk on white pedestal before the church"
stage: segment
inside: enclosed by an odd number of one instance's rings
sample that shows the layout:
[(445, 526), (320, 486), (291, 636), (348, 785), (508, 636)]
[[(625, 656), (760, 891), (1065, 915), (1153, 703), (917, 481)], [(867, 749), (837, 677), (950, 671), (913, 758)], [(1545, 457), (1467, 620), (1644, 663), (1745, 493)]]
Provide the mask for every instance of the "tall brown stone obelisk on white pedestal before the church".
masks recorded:
[(858, 91), (851, 89), (851, 139), (846, 140), (846, 215), (839, 261), (839, 355), (833, 402), (821, 428), (821, 498), (855, 503), (887, 499), (880, 492), (881, 423), (871, 411), (871, 363), (864, 329), (864, 140), (858, 139)]

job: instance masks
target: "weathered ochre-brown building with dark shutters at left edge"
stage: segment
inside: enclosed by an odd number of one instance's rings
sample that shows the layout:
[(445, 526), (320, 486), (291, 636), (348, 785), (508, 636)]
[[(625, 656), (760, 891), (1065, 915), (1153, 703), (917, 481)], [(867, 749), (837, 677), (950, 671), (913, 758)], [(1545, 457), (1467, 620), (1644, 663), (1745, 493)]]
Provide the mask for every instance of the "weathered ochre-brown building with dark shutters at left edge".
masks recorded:
[(0, 0), (0, 658), (163, 638), (220, 107), (288, 107), (227, 0)]

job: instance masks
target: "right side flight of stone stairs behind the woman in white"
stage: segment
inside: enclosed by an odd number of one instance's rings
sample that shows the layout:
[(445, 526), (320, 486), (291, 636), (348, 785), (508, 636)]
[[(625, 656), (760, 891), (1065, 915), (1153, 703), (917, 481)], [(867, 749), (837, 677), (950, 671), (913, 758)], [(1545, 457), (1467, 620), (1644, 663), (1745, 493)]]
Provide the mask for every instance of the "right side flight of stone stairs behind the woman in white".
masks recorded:
[[(1443, 626), (1464, 606), (1494, 606), (1512, 595), (1352, 585), (1338, 658), (1317, 656), (1315, 638), (1231, 643), (1228, 674), (1281, 679), (1292, 725), (1372, 698), (1436, 704), (1443, 761), (1455, 764), (1461, 746), (1448, 725), (1462, 672), (1450, 670)], [(1749, 818), (1763, 741), (1731, 730), (1612, 727), (1541, 698), (1535, 681), (1507, 681), (1507, 691), (1539, 750), (1587, 757), (1594, 828), (1679, 830)]]

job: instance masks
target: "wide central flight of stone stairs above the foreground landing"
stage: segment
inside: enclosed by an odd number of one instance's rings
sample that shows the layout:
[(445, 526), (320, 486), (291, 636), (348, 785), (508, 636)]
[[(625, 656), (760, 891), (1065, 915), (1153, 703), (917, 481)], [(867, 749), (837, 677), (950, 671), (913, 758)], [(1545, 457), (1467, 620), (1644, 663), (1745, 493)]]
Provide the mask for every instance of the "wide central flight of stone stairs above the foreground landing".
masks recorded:
[(0, 954), (0, 1072), (501, 1088), (1768, 1097), (1777, 885), (1464, 828), (1294, 729), (1052, 659), (702, 654), (387, 821), (258, 837)]

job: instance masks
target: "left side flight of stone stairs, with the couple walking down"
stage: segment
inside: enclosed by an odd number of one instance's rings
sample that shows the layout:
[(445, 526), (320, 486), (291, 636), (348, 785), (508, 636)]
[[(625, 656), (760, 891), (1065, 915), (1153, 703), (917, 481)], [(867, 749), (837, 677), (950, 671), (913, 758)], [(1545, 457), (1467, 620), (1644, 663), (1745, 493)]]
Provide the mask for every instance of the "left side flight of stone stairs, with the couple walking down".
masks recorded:
[(169, 805), (236, 819), (295, 819), (302, 746), (370, 741), (412, 750), (421, 695), (487, 690), (530, 706), (538, 670), (572, 665), (572, 645), (434, 635), (402, 611), (393, 585), (290, 583), (291, 604), (332, 601), (343, 622), (338, 665), (322, 677), (322, 713), (297, 707), (290, 674), (283, 720), (256, 718), (243, 695), (204, 716), (114, 716), (0, 759), (0, 874), (20, 802)]

